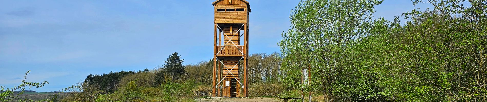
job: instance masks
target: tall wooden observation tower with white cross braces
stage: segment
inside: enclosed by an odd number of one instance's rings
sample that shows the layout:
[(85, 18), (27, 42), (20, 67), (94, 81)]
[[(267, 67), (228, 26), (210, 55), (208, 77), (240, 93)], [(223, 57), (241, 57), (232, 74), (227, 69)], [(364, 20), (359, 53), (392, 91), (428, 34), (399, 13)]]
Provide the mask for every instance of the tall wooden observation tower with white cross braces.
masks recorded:
[(212, 97), (247, 97), (250, 5), (246, 0), (216, 0), (213, 6), (215, 40)]

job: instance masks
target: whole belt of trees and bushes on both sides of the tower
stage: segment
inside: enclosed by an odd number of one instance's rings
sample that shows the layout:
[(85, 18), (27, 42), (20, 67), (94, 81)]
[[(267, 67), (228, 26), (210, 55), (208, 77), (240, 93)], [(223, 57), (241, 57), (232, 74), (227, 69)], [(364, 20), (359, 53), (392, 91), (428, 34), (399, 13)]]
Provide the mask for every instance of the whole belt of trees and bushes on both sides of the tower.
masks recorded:
[[(487, 102), (487, 0), (412, 0), (431, 8), (393, 20), (374, 17), (382, 1), (301, 0), (281, 52), (249, 56), (249, 97)], [(56, 102), (192, 102), (211, 96), (213, 61), (185, 65), (173, 53), (153, 69), (89, 75)], [(301, 83), (302, 69), (311, 85)]]

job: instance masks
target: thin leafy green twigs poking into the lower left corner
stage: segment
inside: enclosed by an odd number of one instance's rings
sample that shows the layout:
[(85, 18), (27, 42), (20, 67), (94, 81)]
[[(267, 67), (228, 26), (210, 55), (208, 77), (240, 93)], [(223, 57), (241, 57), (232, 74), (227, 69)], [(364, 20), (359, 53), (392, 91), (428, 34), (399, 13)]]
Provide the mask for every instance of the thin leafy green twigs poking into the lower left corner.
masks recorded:
[[(16, 100), (17, 102), (33, 102), (33, 100), (30, 99), (19, 99), (19, 95), (22, 95), (24, 93), (24, 90), (26, 87), (32, 88), (32, 87), (43, 87), (45, 84), (49, 84), (47, 81), (44, 81), (42, 83), (35, 83), (35, 82), (26, 82), (25, 79), (27, 79), (27, 74), (29, 74), (30, 71), (27, 71), (25, 73), (24, 79), (21, 81), (22, 83), (19, 86), (14, 86), (12, 88), (7, 88), (0, 86), (0, 102), (12, 102)], [(14, 93), (14, 91), (20, 90), (21, 92), (19, 93)]]

